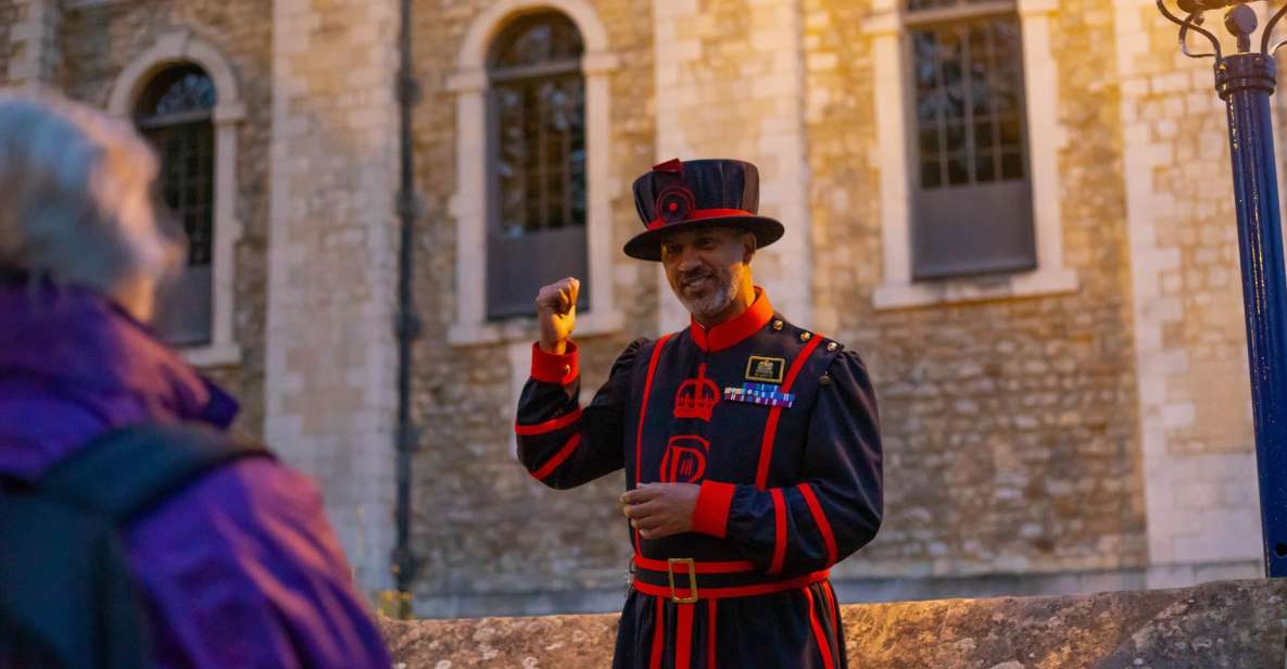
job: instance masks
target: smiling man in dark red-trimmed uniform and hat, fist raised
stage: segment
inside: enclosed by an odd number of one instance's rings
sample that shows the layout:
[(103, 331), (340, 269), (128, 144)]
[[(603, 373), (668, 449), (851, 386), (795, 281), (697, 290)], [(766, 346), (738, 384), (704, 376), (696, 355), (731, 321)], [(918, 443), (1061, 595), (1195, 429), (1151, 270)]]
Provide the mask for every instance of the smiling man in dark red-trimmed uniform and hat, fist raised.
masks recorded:
[(663, 264), (691, 324), (632, 342), (582, 409), (579, 283), (541, 288), (515, 427), (551, 488), (625, 468), (634, 576), (613, 666), (844, 668), (828, 570), (882, 513), (866, 367), (752, 283), (755, 251), (784, 233), (755, 215), (754, 165), (664, 162), (634, 181), (634, 205), (647, 230), (625, 253)]

